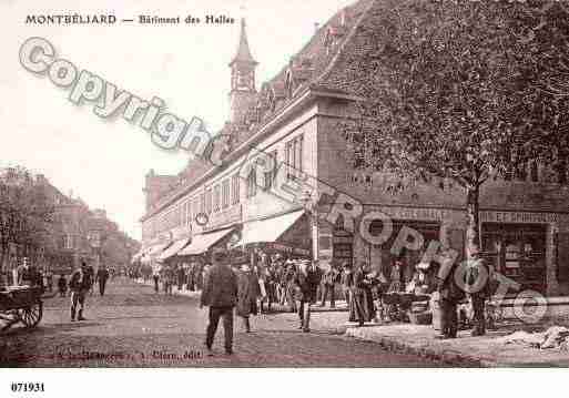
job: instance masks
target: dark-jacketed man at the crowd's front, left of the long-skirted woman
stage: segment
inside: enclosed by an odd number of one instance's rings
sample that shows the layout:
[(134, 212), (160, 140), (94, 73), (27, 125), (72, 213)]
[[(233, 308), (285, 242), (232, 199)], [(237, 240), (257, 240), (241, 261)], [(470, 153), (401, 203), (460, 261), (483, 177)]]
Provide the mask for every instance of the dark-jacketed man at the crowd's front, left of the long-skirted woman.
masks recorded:
[(305, 261), (298, 267), (296, 274), (296, 284), (299, 288), (298, 317), (301, 318), (301, 329), (304, 333), (311, 331), (311, 306), (316, 300), (316, 292), (321, 283), (321, 272), (317, 261)]

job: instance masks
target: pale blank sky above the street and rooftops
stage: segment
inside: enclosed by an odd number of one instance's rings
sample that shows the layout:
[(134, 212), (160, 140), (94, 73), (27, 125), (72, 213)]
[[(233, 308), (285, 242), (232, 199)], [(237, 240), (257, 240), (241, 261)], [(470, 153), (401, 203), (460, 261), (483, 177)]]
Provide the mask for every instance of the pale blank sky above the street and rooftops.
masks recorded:
[[(65, 194), (81, 197), (140, 239), (144, 175), (179, 173), (187, 153), (165, 151), (122, 118), (105, 120), (93, 102), (75, 105), (62, 89), (27, 71), (19, 51), (28, 38), (51, 42), (55, 58), (88, 70), (144, 100), (158, 96), (169, 112), (203, 119), (210, 131), (228, 115), (230, 69), (240, 23), (247, 21), (257, 90), (325, 23), (354, 0), (0, 0), (0, 166), (22, 165), (44, 174)], [(27, 16), (113, 13), (204, 18), (227, 16), (235, 24), (114, 25), (27, 24)]]

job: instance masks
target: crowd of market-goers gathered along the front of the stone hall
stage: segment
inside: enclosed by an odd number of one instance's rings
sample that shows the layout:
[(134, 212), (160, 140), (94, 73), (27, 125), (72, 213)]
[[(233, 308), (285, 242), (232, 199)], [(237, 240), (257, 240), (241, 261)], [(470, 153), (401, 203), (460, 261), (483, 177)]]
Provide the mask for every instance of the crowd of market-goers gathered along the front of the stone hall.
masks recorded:
[[(311, 330), (312, 308), (318, 302), (324, 306), (328, 297), (331, 307), (334, 307), (338, 286), (348, 305), (348, 320), (357, 326), (379, 323), (379, 318), (382, 322), (409, 322), (414, 306), (420, 308), (425, 305), (424, 310), (427, 312), (428, 302), (436, 298), (440, 306), (440, 337), (456, 338), (459, 326), (457, 306), (468, 298), (474, 313), (473, 336), (486, 333), (485, 302), (490, 295), (490, 284), (476, 292), (465, 292), (465, 286), (477, 283), (477, 274), (490, 274), (477, 248), (471, 251), (463, 286), (455, 277), (457, 264), (447, 268), (435, 262), (419, 262), (410, 267), (404, 256), (394, 259), (388, 277), (365, 262), (354, 266), (346, 262), (338, 267), (321, 266), (318, 261), (285, 259), (278, 254), (268, 256), (258, 252), (255, 256), (254, 259), (232, 261), (225, 251), (217, 251), (212, 256), (213, 264), (204, 267), (201, 304), (210, 307), (207, 349), (211, 349), (217, 324), (223, 318), (225, 348), (227, 353), (232, 351), (234, 307), (246, 333), (252, 330), (251, 316), (271, 310), (275, 303), (297, 313), (298, 328), (307, 333)], [(430, 314), (433, 312), (431, 307)]]

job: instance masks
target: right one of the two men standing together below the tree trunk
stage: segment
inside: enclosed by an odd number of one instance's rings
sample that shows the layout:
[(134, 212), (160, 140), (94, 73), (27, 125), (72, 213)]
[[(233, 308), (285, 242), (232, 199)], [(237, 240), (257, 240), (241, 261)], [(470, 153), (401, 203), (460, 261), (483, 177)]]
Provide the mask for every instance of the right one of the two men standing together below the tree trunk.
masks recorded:
[(486, 261), (480, 258), (479, 247), (474, 246), (466, 272), (466, 284), (471, 289), (470, 300), (474, 310), (473, 336), (486, 334), (485, 302), (490, 296), (489, 277), (490, 268)]

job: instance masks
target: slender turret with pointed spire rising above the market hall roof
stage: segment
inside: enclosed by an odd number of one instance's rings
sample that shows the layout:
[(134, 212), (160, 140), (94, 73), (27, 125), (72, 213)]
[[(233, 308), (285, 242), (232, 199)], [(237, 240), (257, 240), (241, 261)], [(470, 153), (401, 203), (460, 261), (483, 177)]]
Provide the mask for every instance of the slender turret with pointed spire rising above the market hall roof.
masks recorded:
[(237, 54), (230, 63), (230, 122), (232, 123), (241, 123), (243, 121), (248, 105), (255, 98), (255, 68), (257, 64), (253, 55), (251, 55), (247, 32), (245, 30), (245, 19), (242, 19)]

